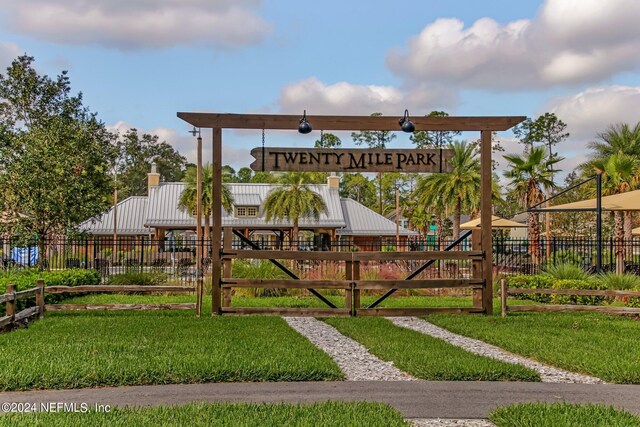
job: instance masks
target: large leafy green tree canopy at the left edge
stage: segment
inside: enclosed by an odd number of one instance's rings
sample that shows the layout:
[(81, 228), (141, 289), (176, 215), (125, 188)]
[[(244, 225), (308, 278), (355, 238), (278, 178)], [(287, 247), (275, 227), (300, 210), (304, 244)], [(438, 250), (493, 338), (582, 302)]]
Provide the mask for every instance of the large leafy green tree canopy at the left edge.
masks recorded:
[(20, 56), (0, 75), (0, 186), (5, 227), (43, 244), (108, 208), (116, 151), (67, 72), (51, 79), (33, 63)]

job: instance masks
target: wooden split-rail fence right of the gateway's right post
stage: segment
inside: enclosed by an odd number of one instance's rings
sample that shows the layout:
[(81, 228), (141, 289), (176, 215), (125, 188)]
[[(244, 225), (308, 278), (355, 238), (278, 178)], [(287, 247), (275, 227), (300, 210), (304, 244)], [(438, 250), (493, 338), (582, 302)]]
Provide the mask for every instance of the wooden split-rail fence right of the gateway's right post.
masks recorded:
[(567, 296), (600, 296), (600, 297), (640, 297), (639, 291), (613, 291), (597, 289), (531, 289), (509, 288), (506, 279), (500, 281), (502, 317), (510, 312), (558, 312), (558, 311), (590, 311), (605, 314), (640, 314), (636, 307), (603, 307), (577, 304), (533, 304), (508, 305), (507, 297), (518, 294), (543, 294)]

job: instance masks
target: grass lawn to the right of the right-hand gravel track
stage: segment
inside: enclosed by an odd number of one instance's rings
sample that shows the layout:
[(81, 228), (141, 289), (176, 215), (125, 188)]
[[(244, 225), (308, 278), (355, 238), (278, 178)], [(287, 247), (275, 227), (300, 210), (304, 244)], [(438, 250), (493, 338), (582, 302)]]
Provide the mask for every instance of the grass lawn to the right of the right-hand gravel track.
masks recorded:
[(640, 384), (640, 322), (597, 313), (430, 315), (452, 332), (607, 382)]

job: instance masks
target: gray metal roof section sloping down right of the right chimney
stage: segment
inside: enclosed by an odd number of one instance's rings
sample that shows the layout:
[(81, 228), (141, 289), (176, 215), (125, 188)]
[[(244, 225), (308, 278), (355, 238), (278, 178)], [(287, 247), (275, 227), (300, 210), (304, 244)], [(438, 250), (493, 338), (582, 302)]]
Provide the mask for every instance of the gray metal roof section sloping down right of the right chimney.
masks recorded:
[[(372, 211), (352, 199), (340, 199), (346, 226), (336, 230), (341, 236), (395, 236), (396, 223)], [(399, 229), (401, 236), (416, 236), (415, 231), (404, 227)]]

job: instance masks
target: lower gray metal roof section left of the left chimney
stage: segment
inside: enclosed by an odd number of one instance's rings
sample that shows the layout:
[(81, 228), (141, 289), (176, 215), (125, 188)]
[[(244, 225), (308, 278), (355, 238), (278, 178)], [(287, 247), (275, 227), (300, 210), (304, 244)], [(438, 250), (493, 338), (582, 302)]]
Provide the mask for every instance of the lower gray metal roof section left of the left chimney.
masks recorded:
[[(150, 234), (152, 230), (144, 226), (147, 198), (132, 196), (117, 205), (117, 231), (121, 236)], [(78, 228), (95, 235), (113, 235), (113, 207), (102, 215), (81, 223)]]

